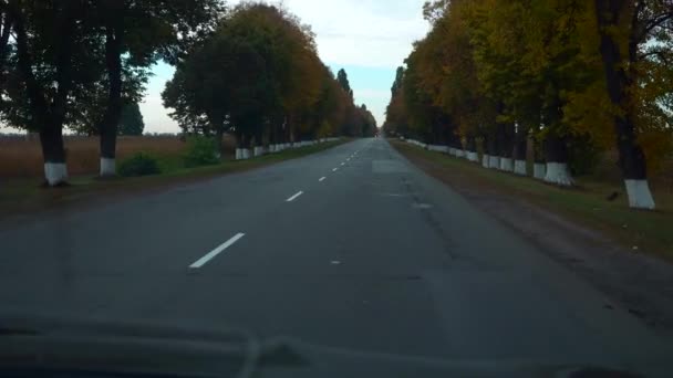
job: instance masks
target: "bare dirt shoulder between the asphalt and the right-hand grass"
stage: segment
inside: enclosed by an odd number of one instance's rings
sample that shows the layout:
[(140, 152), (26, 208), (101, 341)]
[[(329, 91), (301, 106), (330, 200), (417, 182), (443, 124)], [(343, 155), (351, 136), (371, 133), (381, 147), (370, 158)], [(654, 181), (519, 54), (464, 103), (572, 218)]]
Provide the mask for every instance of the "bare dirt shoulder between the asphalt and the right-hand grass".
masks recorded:
[(648, 326), (673, 336), (673, 265), (634, 253), (600, 230), (580, 225), (566, 214), (496, 185), (473, 180), (465, 171), (457, 172), (428, 158), (420, 148), (395, 141), (392, 145), (427, 175), (534, 243)]

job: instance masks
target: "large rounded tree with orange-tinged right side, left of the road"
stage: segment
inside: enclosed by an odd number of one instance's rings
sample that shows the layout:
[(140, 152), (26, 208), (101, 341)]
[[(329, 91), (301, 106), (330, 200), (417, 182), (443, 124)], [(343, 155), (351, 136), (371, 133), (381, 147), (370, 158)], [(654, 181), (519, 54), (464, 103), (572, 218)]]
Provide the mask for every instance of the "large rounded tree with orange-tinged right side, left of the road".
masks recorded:
[(178, 65), (163, 98), (183, 129), (231, 130), (246, 155), (252, 140), (313, 138), (339, 122), (335, 85), (308, 27), (278, 7), (244, 3)]

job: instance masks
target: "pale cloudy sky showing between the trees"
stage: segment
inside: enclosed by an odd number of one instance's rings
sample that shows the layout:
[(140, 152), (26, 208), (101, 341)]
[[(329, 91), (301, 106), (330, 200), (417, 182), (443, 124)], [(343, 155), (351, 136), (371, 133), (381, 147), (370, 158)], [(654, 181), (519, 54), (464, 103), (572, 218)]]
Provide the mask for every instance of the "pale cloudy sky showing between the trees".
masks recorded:
[[(412, 43), (428, 31), (422, 13), (424, 1), (284, 0), (282, 4), (311, 25), (320, 59), (334, 73), (340, 69), (346, 71), (355, 103), (365, 104), (381, 125), (397, 66), (411, 52)], [(173, 76), (173, 67), (161, 63), (153, 67), (153, 73), (141, 104), (145, 132), (178, 132), (161, 97), (166, 81)]]

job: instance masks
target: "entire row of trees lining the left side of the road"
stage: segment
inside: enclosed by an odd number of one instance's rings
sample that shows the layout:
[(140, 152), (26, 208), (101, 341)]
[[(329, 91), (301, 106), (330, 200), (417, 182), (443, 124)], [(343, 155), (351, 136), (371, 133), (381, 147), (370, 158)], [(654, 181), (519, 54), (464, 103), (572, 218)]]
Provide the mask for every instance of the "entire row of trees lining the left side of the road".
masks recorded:
[(115, 175), (116, 137), (142, 134), (137, 103), (159, 61), (176, 66), (163, 97), (186, 133), (248, 146), (375, 128), (281, 7), (0, 0), (0, 122), (40, 135), (50, 186), (68, 179), (65, 129), (99, 136), (101, 176)]

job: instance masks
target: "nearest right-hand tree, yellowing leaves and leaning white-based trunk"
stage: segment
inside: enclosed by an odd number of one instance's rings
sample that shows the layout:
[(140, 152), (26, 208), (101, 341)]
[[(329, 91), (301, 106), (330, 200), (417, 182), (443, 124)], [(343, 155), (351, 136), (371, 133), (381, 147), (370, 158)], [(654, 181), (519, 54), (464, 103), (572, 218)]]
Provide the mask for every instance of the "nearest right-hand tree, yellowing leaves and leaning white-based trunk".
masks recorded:
[[(596, 0), (594, 7), (607, 91), (614, 108), (619, 165), (629, 203), (632, 208), (654, 209), (642, 143), (646, 129), (656, 127), (658, 123), (667, 124), (661, 140), (671, 143), (672, 117), (658, 99), (670, 94), (673, 86), (670, 81), (669, 85), (658, 86), (654, 77), (671, 77), (673, 2)], [(654, 81), (648, 77), (650, 74)]]

